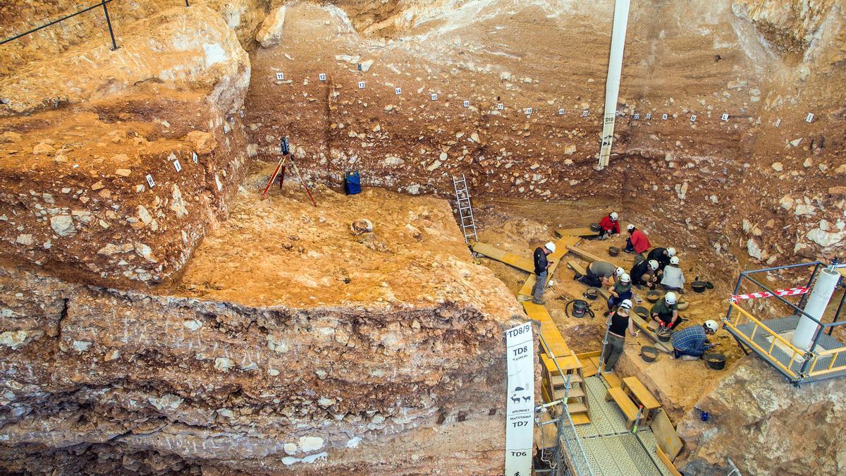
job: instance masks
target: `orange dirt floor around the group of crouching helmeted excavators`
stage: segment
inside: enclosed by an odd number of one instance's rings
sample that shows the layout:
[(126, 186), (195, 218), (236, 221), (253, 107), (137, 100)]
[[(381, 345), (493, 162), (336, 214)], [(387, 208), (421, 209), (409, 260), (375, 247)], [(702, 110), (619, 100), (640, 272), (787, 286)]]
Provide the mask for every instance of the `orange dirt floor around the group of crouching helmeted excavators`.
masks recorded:
[[(508, 252), (530, 257), (536, 246), (556, 238), (554, 230), (588, 226), (591, 222), (599, 221), (605, 213), (612, 211), (613, 204), (598, 200), (535, 203), (476, 199), (474, 208), (480, 241)], [(623, 227), (628, 224), (624, 216), (621, 217), (621, 222)], [(688, 283), (694, 280), (698, 272), (697, 263), (700, 261), (700, 257), (695, 252), (687, 252), (683, 246), (663, 240), (660, 236), (651, 235), (650, 238), (653, 246), (676, 246), (682, 260), (681, 267), (684, 270), (685, 279)], [(634, 255), (621, 253), (618, 257), (608, 256), (608, 246), (625, 246), (624, 237), (607, 241), (584, 239), (578, 246), (600, 257), (607, 257), (608, 261), (622, 266), (627, 271), (634, 264)], [(583, 266), (587, 264), (585, 260), (575, 257), (573, 253), (566, 255), (565, 259), (573, 259)], [(526, 278), (525, 272), (486, 257), (480, 257), (480, 260), (485, 266), (491, 268), (516, 295)], [(602, 348), (602, 336), (605, 333), (603, 314), (607, 310), (606, 302), (602, 297), (591, 302), (594, 318), (569, 317), (564, 307), (574, 299), (583, 299), (582, 295), (587, 289), (585, 285), (574, 281), (573, 278), (573, 271), (567, 268), (565, 263), (558, 267), (552, 276), (552, 285), (547, 288), (544, 295), (547, 310), (558, 324), (558, 329), (561, 330), (571, 349), (577, 353), (598, 351)], [(643, 299), (644, 295), (645, 291), (635, 290), (635, 306), (638, 305), (638, 300), (643, 300), (640, 305), (650, 306), (650, 303)], [(718, 296), (717, 291), (697, 294), (690, 291), (688, 287), (683, 297), (689, 302), (688, 309), (681, 313), (682, 317), (687, 319), (687, 322), (682, 324), (683, 327), (701, 324), (707, 319), (719, 321), (727, 310), (726, 296)], [(714, 351), (728, 357), (727, 368), (743, 356), (743, 352), (726, 331), (718, 332), (717, 335), (711, 337), (711, 341), (717, 345)], [(627, 348), (630, 347), (627, 350), (629, 354), (631, 351), (636, 352), (640, 346), (651, 345), (651, 340), (640, 334), (636, 338), (629, 336), (626, 344)], [(640, 361), (639, 358), (637, 360)], [(648, 379), (660, 387), (655, 389), (656, 394), (662, 396), (665, 407), (676, 410), (677, 412), (674, 413), (678, 415), (692, 407), (699, 396), (723, 374), (706, 369), (701, 362), (673, 361), (667, 355), (662, 355), (656, 363), (651, 365), (645, 363), (644, 365), (627, 365), (626, 368), (627, 371), (637, 373), (642, 379)], [(690, 382), (695, 382), (696, 385), (691, 385)]]

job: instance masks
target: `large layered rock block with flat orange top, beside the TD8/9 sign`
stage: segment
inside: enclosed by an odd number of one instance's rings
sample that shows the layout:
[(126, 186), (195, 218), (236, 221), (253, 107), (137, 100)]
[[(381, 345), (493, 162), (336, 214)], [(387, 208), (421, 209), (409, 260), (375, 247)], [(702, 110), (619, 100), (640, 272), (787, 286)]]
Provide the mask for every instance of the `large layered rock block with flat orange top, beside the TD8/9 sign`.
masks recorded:
[(160, 292), (0, 268), (0, 468), (502, 473), (514, 298), (448, 204), (372, 193), (361, 242), (332, 191), (250, 193)]

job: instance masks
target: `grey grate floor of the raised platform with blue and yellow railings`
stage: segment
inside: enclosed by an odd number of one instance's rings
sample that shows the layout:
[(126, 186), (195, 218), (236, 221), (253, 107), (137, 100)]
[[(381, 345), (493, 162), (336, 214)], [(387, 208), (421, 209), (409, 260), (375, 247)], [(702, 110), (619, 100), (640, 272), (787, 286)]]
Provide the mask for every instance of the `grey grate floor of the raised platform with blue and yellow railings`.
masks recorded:
[[(764, 320), (764, 321), (761, 321), (761, 322), (763, 324), (765, 324), (766, 327), (772, 329), (772, 331), (775, 332), (776, 334), (783, 335), (783, 334), (788, 334), (788, 333), (796, 330), (796, 325), (799, 324), (799, 316), (788, 316), (786, 318), (767, 319), (767, 320)], [(754, 323), (740, 324), (737, 327), (745, 335), (736, 335), (736, 337), (739, 337), (740, 340), (746, 341), (746, 340), (748, 340), (746, 335), (750, 335), (752, 333), (752, 330), (755, 329), (755, 324)], [(728, 327), (726, 329), (728, 329), (729, 332), (732, 332), (732, 329), (729, 329)], [(732, 334), (734, 334), (734, 333), (732, 332)], [(764, 349), (768, 350), (770, 348), (770, 345), (772, 344), (772, 340), (770, 340), (770, 339), (772, 339), (772, 337), (769, 334), (767, 334), (766, 332), (763, 332), (763, 331), (761, 331), (761, 329), (759, 329), (757, 332), (755, 332), (755, 338), (753, 340), (755, 341), (755, 344), (757, 344), (758, 346), (761, 346)], [(789, 338), (788, 338), (788, 340), (789, 340)], [(842, 342), (833, 338), (831, 335), (823, 334), (820, 337), (820, 342), (819, 342), (819, 345), (817, 346), (817, 349), (822, 351), (822, 350), (827, 350), (827, 349), (834, 349), (834, 348), (841, 347), (841, 346), (843, 346)], [(761, 353), (761, 351), (757, 351), (754, 347), (752, 348), (752, 350), (755, 351), (756, 353), (758, 353), (759, 355), (761, 355), (761, 357), (764, 357), (765, 360), (769, 360), (769, 358), (775, 359), (785, 367), (787, 367), (788, 364), (790, 363), (790, 357), (792, 355), (788, 351), (783, 351), (783, 349), (779, 348), (779, 346), (774, 346), (772, 348), (772, 354)], [(831, 357), (820, 358), (816, 363), (816, 369), (820, 370), (820, 369), (823, 369), (823, 368), (828, 368), (830, 363), (832, 363)], [(834, 363), (835, 366), (843, 365), (843, 364), (846, 364), (846, 355), (838, 356), (837, 360)], [(794, 362), (792, 365), (790, 365), (790, 370), (792, 370), (796, 374), (799, 374), (802, 371), (802, 365), (803, 365), (803, 362)], [(781, 372), (782, 374), (784, 374), (782, 369), (780, 369), (780, 368), (776, 368), (776, 369), (779, 372)], [(802, 382), (805, 383), (805, 382), (812, 382), (814, 380), (831, 379), (833, 377), (841, 377), (841, 376), (844, 376), (844, 375), (846, 375), (846, 370), (843, 370), (843, 371), (840, 371), (840, 372), (832, 372), (831, 374), (823, 374), (823, 375), (819, 375), (819, 376), (816, 376), (816, 377), (808, 377), (808, 378), (803, 379)], [(785, 374), (785, 376), (788, 376), (788, 375)]]

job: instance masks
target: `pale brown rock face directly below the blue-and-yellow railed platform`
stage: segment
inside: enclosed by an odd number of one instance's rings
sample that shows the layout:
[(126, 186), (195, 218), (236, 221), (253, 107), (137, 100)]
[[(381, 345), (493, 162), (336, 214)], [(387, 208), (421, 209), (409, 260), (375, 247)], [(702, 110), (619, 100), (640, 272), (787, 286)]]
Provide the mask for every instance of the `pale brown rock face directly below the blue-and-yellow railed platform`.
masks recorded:
[[(843, 474), (846, 388), (833, 379), (794, 388), (760, 358), (746, 357), (678, 424), (690, 450), (685, 473)], [(678, 462), (677, 462), (678, 463)]]

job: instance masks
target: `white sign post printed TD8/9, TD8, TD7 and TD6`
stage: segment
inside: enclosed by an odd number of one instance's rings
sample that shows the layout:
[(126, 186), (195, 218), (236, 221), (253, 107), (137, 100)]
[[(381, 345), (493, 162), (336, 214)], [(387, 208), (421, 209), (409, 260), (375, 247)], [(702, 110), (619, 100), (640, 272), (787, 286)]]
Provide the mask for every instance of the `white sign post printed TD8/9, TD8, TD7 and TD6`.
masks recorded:
[(505, 474), (529, 476), (535, 432), (535, 344), (531, 324), (505, 331), (508, 394), (505, 403)]

